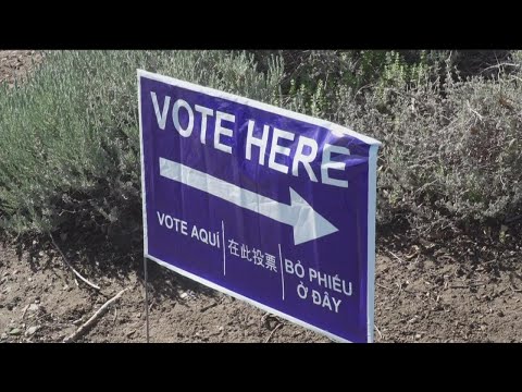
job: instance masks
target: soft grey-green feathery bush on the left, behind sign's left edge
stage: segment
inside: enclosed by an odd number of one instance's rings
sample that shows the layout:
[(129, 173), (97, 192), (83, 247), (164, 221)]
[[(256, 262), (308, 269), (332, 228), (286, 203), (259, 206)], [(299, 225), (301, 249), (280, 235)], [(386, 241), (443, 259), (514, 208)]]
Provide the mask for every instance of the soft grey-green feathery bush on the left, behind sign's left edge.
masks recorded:
[(139, 230), (136, 69), (277, 103), (282, 66), (225, 51), (49, 52), (29, 81), (0, 86), (0, 223)]

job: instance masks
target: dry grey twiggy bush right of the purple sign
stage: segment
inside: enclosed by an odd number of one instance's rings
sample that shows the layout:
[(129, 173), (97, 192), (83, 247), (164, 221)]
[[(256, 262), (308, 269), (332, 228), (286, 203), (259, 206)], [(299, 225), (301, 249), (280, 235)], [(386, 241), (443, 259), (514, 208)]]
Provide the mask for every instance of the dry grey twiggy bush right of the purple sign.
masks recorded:
[[(513, 54), (514, 61), (520, 58)], [(455, 81), (455, 68), (446, 66), (443, 75), (440, 62), (406, 68), (397, 54), (388, 59), (370, 88), (337, 85), (327, 110), (316, 110), (324, 102), (322, 79), (288, 102), (383, 142), (378, 221), (403, 217), (427, 235), (521, 213), (520, 65), (495, 78)]]

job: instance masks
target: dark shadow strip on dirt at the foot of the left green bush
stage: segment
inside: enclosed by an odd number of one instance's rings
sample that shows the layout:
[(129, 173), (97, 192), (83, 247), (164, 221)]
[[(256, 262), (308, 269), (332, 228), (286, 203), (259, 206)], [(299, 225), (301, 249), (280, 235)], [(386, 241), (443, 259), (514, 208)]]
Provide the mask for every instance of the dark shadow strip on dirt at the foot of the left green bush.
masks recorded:
[[(144, 285), (145, 271), (142, 258), (142, 240), (137, 235), (128, 235), (126, 241), (120, 236), (117, 241), (107, 235), (86, 233), (67, 233), (65, 241), (60, 233), (51, 236), (25, 236), (8, 241), (1, 240), (3, 245), (14, 246), (18, 261), (26, 260), (33, 271), (39, 268), (61, 268), (71, 272), (70, 264), (83, 277), (91, 282), (116, 280), (128, 281), (136, 274), (140, 285)], [(65, 257), (66, 262), (63, 261)], [(149, 260), (148, 279), (150, 294), (156, 298), (171, 298), (178, 301), (179, 295), (191, 292), (195, 295), (216, 297), (219, 295), (198, 282), (182, 277), (174, 271)], [(72, 275), (72, 272), (71, 272)], [(86, 290), (95, 292), (88, 285)]]

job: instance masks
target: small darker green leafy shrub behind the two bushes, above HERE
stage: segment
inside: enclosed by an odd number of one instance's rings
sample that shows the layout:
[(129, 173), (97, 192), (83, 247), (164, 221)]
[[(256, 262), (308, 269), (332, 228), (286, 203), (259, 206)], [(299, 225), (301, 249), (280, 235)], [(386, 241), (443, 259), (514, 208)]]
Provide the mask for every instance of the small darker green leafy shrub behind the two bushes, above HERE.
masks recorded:
[(283, 54), (287, 103), (294, 110), (323, 118), (336, 115), (339, 94), (376, 90), (385, 105), (388, 88), (410, 87), (440, 71), (440, 54), (426, 51), (312, 50)]

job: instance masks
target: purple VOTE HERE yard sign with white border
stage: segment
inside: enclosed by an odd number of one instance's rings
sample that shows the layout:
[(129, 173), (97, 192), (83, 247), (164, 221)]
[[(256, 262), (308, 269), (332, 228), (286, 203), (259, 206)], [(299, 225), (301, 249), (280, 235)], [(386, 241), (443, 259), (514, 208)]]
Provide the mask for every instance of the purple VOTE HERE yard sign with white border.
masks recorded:
[(346, 127), (138, 71), (145, 256), (372, 342), (376, 154)]

